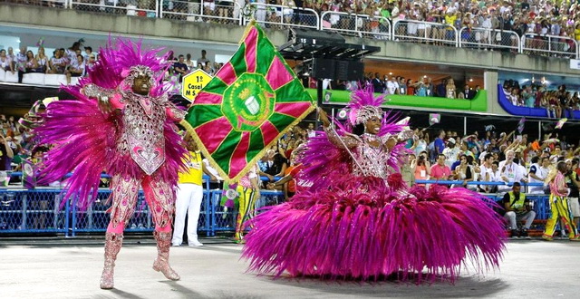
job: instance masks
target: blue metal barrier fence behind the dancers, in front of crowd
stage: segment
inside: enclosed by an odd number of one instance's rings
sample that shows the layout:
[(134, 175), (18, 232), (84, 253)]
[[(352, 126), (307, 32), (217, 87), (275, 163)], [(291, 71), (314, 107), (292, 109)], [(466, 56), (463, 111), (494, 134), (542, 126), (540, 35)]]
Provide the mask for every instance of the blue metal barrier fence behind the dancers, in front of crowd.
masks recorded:
[[(263, 178), (263, 180), (267, 180)], [(457, 184), (462, 181), (450, 180), (417, 180), (420, 184)], [(468, 185), (502, 185), (501, 182), (469, 182)], [(524, 186), (542, 186), (541, 183), (522, 184)], [(106, 212), (111, 203), (108, 198), (111, 190), (102, 188), (98, 199), (86, 211), (77, 210), (74, 200), (69, 200), (60, 208), (62, 189), (36, 188), (32, 190), (0, 188), (0, 235), (7, 233), (59, 233), (65, 236), (76, 236), (78, 233), (101, 233), (109, 224)], [(236, 228), (237, 210), (220, 206), (221, 189), (210, 189), (208, 180), (205, 183), (204, 198), (199, 215), (198, 231), (208, 236), (217, 232), (233, 232)], [(283, 201), (284, 194), (279, 191), (261, 190), (262, 197), (256, 201), (256, 208), (277, 205)], [(501, 199), (497, 194), (485, 194), (494, 200)], [(549, 217), (548, 197), (543, 194), (529, 194), (527, 198), (534, 202), (536, 219)], [(148, 232), (154, 229), (149, 207), (140, 192), (131, 217), (127, 232)]]

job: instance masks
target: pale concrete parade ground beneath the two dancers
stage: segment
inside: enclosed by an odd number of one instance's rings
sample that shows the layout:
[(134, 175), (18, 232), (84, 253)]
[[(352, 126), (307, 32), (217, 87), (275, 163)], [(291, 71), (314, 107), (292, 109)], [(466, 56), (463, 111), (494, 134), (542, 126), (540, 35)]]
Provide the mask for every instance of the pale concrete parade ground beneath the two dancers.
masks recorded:
[(580, 297), (580, 244), (568, 241), (511, 241), (500, 270), (478, 276), (468, 269), (456, 285), (273, 280), (245, 272), (241, 246), (204, 241), (203, 247), (171, 248), (181, 280), (170, 282), (151, 269), (153, 240), (128, 238), (115, 289), (101, 290), (102, 240), (0, 239), (0, 298)]

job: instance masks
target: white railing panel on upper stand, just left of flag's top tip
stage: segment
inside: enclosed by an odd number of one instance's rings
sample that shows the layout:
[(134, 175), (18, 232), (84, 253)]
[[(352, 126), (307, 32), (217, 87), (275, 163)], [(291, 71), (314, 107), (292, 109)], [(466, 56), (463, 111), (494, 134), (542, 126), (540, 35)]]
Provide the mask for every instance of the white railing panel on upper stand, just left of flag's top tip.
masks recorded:
[(163, 1), (160, 18), (220, 24), (242, 24), (240, 5), (231, 0), (218, 2)]

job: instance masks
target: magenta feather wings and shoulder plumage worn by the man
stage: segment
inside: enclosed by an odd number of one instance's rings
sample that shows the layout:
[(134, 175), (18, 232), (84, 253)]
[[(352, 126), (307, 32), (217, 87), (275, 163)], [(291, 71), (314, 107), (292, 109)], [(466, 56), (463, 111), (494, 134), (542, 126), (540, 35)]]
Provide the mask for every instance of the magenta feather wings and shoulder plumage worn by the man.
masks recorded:
[[(127, 143), (126, 127), (131, 126), (124, 119), (129, 113), (128, 108), (123, 106), (121, 110), (103, 113), (98, 106), (100, 100), (94, 95), (87, 96), (87, 93), (90, 93), (89, 90), (110, 93), (111, 102), (123, 101), (122, 96), (136, 97), (131, 92), (132, 80), (138, 71), (145, 70), (151, 79), (148, 99), (179, 114), (180, 111), (167, 99), (169, 87), (159, 83), (170, 65), (167, 61), (169, 53), (158, 56), (159, 52), (159, 49), (143, 50), (141, 43), (132, 43), (131, 40), (110, 41), (106, 48), (100, 49), (100, 60), (88, 70), (88, 77), (82, 78), (78, 85), (63, 86), (63, 90), (71, 93), (76, 100), (55, 101), (47, 106), (43, 125), (34, 130), (39, 143), (53, 145), (44, 159), (39, 183), (47, 184), (73, 172), (67, 180), (63, 203), (68, 198), (78, 196), (78, 207), (88, 207), (97, 198), (102, 171), (131, 178), (142, 176), (144, 170), (148, 172), (135, 159), (131, 159), (132, 153), (129, 154), (127, 145), (123, 144)], [(160, 148), (164, 149), (163, 160), (154, 172), (156, 178), (175, 186), (178, 170), (184, 167), (182, 157), (185, 149), (174, 124), (176, 120), (166, 117), (165, 111), (163, 115), (149, 115), (149, 119), (155, 118), (160, 128), (141, 130), (145, 134), (162, 134), (160, 138), (164, 144)]]

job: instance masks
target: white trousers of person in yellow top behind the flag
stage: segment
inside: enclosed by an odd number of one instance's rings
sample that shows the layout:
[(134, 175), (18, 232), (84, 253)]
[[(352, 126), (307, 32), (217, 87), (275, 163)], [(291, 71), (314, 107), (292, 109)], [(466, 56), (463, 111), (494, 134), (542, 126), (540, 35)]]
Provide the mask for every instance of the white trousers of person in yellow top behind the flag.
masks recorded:
[(175, 201), (175, 227), (173, 228), (173, 245), (183, 242), (185, 216), (188, 217), (188, 242), (198, 239), (198, 219), (203, 199), (203, 188), (196, 184), (179, 184)]

